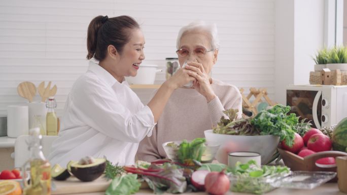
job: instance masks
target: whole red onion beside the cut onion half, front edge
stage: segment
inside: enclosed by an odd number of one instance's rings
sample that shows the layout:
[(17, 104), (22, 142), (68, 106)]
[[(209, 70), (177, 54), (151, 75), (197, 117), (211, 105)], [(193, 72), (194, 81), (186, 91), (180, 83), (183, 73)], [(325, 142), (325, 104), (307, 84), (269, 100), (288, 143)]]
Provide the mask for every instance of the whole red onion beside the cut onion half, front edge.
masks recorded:
[(221, 172), (213, 171), (205, 177), (206, 192), (212, 195), (223, 195), (229, 190), (230, 181), (225, 175), (224, 170)]

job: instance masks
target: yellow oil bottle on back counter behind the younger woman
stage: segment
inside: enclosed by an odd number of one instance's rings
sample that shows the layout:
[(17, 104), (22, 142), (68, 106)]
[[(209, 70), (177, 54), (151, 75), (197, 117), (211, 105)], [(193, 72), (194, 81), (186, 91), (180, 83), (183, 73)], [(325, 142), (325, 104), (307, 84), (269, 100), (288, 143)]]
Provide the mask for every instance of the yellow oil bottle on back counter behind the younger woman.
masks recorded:
[(46, 126), (47, 135), (57, 135), (58, 134), (58, 118), (55, 114), (54, 108), (57, 107), (57, 103), (54, 97), (48, 97), (46, 102), (47, 115), (46, 115)]

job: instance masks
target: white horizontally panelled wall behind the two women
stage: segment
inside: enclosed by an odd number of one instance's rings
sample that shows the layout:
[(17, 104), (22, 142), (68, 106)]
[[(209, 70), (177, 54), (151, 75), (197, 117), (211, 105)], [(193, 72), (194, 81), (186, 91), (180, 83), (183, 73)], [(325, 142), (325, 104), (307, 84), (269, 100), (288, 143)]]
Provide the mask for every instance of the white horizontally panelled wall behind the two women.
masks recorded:
[[(74, 81), (87, 69), (87, 27), (97, 15), (134, 17), (146, 38), (144, 63), (163, 70), (165, 58), (177, 56), (183, 25), (215, 22), (221, 47), (213, 77), (246, 91), (265, 87), (274, 97), (274, 0), (12, 0), (0, 1), (0, 114), (26, 103), (16, 90), (23, 81), (57, 85), (62, 114)], [(155, 83), (164, 81), (165, 71)], [(147, 103), (154, 90), (134, 91)]]

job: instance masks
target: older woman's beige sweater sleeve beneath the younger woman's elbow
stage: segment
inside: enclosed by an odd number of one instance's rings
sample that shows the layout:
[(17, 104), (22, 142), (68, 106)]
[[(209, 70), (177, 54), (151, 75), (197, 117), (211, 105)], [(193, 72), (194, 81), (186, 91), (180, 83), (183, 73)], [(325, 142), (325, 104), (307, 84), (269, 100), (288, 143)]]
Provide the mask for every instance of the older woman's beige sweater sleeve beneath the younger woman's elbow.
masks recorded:
[(158, 151), (157, 125), (153, 128), (152, 136), (146, 136), (138, 146), (137, 159), (152, 162), (161, 159)]

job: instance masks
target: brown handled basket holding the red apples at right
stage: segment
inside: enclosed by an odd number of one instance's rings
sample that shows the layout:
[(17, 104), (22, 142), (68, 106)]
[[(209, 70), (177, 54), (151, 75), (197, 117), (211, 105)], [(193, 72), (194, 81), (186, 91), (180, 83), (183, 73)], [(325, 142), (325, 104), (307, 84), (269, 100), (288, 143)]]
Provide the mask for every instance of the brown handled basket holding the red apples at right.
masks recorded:
[[(316, 161), (325, 157), (341, 157), (347, 156), (346, 152), (342, 151), (321, 151), (315, 154), (308, 155), (305, 158), (299, 157), (295, 153), (292, 153), (281, 148), (277, 148), (283, 159), (283, 162), (292, 171), (332, 171), (336, 172), (336, 166), (330, 168), (318, 167)], [(330, 182), (336, 182), (337, 178), (330, 180)]]

